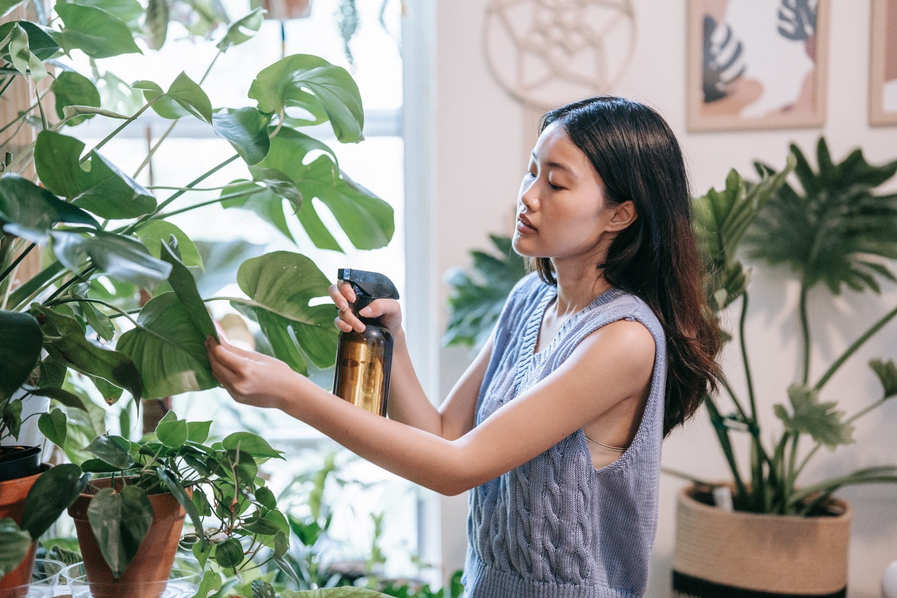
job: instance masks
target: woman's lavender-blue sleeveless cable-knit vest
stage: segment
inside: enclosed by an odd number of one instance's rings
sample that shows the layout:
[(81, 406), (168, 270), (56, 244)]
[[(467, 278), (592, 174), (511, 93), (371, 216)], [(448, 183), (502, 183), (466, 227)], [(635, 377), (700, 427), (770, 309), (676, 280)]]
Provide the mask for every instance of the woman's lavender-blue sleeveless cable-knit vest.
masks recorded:
[(475, 425), (558, 368), (588, 334), (623, 318), (639, 321), (654, 336), (648, 403), (631, 445), (601, 469), (593, 467), (580, 428), (470, 491), (462, 577), (468, 598), (637, 598), (648, 585), (658, 524), (666, 335), (648, 304), (612, 288), (571, 316), (548, 347), (534, 354), (545, 308), (556, 294), (537, 273), (511, 290), (476, 401)]

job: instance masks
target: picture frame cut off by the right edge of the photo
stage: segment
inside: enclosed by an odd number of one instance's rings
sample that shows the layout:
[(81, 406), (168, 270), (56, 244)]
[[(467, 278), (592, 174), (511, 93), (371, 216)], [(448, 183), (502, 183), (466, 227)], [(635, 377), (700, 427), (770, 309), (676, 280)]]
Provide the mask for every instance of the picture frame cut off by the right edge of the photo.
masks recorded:
[(869, 125), (897, 125), (897, 0), (872, 0)]

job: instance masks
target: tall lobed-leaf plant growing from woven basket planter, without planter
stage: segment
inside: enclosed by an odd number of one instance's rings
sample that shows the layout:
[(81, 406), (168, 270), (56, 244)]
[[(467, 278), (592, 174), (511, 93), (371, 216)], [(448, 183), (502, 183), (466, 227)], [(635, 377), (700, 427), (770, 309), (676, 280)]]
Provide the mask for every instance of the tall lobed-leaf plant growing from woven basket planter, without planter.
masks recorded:
[[(810, 379), (808, 291), (823, 282), (832, 294), (840, 294), (843, 285), (856, 291), (877, 293), (880, 291), (877, 276), (892, 282), (897, 280), (885, 262), (897, 258), (897, 237), (893, 232), (897, 230), (897, 195), (875, 195), (875, 187), (897, 172), (897, 161), (871, 166), (862, 152), (856, 150), (836, 164), (823, 138), (817, 144), (816, 161), (818, 170), (814, 171), (803, 152), (792, 144), (788, 166), (782, 171), (776, 172), (757, 162), (755, 167), (762, 181), (749, 185), (733, 170), (725, 189), (711, 189), (693, 204), (695, 226), (709, 273), (707, 293), (711, 307), (719, 311), (741, 299), (738, 338), (747, 401), (724, 380), (723, 386), (735, 411), (721, 412), (710, 397), (704, 402), (732, 471), (736, 490), (733, 505), (737, 510), (815, 516), (824, 513), (824, 504), (832, 492), (843, 486), (897, 482), (897, 465), (883, 464), (806, 487), (798, 485), (798, 476), (821, 446), (834, 450), (854, 442), (853, 422), (897, 396), (897, 368), (893, 360), (875, 359), (869, 361), (869, 367), (882, 384), (882, 394), (875, 401), (845, 417), (846, 413), (837, 409), (837, 402), (823, 402), (820, 398), (826, 382), (863, 343), (897, 316), (897, 308), (878, 317), (815, 382)], [(800, 183), (799, 191), (787, 182), (792, 169)], [(762, 442), (746, 351), (750, 272), (736, 256), (743, 240), (749, 259), (770, 265), (788, 264), (800, 281), (802, 376), (800, 381), (788, 386), (788, 403), (773, 406), (784, 429), (771, 446)], [(726, 338), (732, 339), (728, 334)], [(750, 437), (749, 484), (736, 464), (732, 433), (746, 433)], [(798, 459), (801, 438), (808, 439), (811, 448)]]

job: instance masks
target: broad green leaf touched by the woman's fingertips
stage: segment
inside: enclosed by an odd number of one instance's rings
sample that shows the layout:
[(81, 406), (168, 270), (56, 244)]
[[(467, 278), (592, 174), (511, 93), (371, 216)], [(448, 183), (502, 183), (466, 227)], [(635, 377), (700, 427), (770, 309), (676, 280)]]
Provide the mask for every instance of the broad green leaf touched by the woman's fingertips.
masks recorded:
[(173, 292), (150, 299), (140, 325), (118, 339), (118, 350), (134, 360), (144, 398), (161, 398), (218, 386), (205, 351), (205, 335)]

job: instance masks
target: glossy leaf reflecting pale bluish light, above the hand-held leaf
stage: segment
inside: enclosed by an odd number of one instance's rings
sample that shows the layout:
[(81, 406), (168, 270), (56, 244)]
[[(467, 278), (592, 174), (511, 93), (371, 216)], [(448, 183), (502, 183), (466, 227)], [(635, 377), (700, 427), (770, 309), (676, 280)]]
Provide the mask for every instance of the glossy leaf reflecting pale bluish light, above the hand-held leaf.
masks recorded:
[(171, 273), (170, 264), (153, 257), (135, 238), (101, 230), (90, 237), (62, 230), (53, 230), (50, 236), (57, 258), (73, 272), (79, 272), (90, 257), (100, 272), (150, 290)]

